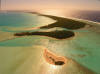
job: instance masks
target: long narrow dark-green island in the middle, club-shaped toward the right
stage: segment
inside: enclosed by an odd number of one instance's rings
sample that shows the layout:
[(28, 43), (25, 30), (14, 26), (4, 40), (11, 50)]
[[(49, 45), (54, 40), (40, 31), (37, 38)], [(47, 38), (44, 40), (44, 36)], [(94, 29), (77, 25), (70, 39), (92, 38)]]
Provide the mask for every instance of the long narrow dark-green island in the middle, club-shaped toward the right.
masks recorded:
[(66, 39), (73, 37), (75, 34), (71, 31), (51, 31), (51, 32), (22, 32), (16, 33), (15, 36), (30, 36), (30, 35), (40, 35), (40, 36), (48, 36), (57, 39)]

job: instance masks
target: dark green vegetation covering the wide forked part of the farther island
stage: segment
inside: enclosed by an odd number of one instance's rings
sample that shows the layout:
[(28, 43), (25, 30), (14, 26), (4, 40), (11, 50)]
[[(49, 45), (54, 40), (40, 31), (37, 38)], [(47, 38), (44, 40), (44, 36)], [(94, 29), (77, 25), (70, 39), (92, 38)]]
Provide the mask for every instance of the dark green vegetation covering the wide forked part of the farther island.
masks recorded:
[(61, 27), (61, 28), (75, 30), (75, 29), (83, 28), (86, 25), (86, 23), (84, 23), (84, 22), (80, 22), (80, 21), (76, 21), (76, 20), (72, 20), (72, 19), (61, 18), (61, 17), (51, 16), (51, 15), (43, 15), (43, 16), (50, 17), (54, 20), (57, 20), (57, 22), (49, 24), (47, 26), (42, 26), (40, 28), (49, 29), (49, 28), (54, 28), (54, 27)]

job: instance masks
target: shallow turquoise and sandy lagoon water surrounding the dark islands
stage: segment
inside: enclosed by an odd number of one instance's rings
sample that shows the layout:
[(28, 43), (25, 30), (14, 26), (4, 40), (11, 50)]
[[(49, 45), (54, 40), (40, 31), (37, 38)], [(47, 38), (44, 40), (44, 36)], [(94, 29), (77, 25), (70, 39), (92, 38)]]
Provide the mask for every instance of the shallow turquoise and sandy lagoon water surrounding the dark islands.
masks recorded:
[[(16, 32), (48, 25), (55, 20), (30, 13), (0, 13), (0, 74), (100, 74), (100, 24), (78, 21), (91, 24), (92, 27), (72, 30), (75, 37), (71, 39), (59, 40), (37, 35), (15, 37), (13, 34)], [(28, 31), (62, 29), (56, 27)], [(65, 67), (50, 65), (43, 58), (45, 48), (75, 63), (68, 63)]]

